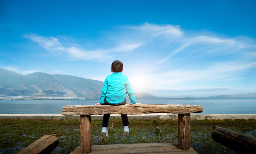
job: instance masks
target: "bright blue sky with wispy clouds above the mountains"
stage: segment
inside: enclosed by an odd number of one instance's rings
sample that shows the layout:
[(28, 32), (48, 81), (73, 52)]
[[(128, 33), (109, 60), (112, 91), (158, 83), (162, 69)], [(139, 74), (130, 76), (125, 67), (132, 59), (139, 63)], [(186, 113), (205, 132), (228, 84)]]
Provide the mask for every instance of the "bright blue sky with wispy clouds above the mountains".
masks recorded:
[(0, 0), (0, 68), (104, 81), (114, 60), (134, 92), (256, 93), (256, 1)]

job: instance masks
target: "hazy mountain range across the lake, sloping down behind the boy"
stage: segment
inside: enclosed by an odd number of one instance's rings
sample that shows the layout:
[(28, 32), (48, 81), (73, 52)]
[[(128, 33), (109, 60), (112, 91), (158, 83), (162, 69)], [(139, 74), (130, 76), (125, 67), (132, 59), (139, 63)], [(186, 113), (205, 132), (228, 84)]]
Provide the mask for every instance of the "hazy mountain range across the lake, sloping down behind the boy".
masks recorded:
[[(22, 75), (0, 68), (0, 97), (82, 97), (100, 98), (102, 81), (70, 75), (36, 72)], [(135, 93), (137, 99), (155, 99), (148, 93)]]

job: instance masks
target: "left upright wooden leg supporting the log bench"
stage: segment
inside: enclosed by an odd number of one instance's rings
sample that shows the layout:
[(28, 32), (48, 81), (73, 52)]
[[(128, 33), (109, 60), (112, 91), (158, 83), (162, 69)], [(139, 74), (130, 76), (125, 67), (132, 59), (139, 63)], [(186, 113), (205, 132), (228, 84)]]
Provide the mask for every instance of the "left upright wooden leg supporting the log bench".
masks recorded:
[(81, 125), (80, 125), (80, 154), (90, 153), (91, 152), (91, 134), (90, 134), (90, 116), (80, 116)]

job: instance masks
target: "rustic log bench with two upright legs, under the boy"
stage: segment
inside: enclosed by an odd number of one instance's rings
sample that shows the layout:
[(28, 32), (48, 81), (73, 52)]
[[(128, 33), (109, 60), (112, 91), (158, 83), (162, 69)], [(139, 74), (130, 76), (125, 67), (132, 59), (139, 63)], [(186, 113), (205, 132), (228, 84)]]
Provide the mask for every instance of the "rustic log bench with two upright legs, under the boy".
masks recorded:
[(178, 114), (178, 148), (189, 150), (190, 141), (190, 113), (200, 113), (203, 108), (200, 105), (176, 105), (176, 104), (126, 104), (120, 106), (110, 105), (75, 105), (65, 106), (62, 115), (80, 115), (81, 145), (80, 153), (91, 151), (90, 116), (102, 114), (127, 114), (138, 115), (147, 113), (174, 113)]

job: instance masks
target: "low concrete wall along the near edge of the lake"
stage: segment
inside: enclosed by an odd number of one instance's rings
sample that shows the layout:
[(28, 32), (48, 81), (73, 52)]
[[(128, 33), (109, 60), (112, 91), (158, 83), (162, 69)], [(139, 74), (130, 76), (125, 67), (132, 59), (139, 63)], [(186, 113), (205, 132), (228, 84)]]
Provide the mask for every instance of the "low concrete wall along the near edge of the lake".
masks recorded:
[[(256, 114), (196, 114), (192, 113), (191, 120), (223, 120), (223, 119), (256, 119)], [(91, 119), (100, 119), (102, 120), (103, 115), (91, 116)], [(120, 115), (111, 115), (111, 118), (119, 118)], [(130, 120), (132, 119), (146, 119), (146, 120), (177, 120), (178, 114), (169, 114), (169, 113), (151, 113), (151, 114), (141, 114), (141, 115), (128, 115)], [(57, 120), (57, 119), (80, 119), (80, 116), (63, 116), (62, 114), (0, 114), (0, 119), (48, 119), (48, 120)]]

